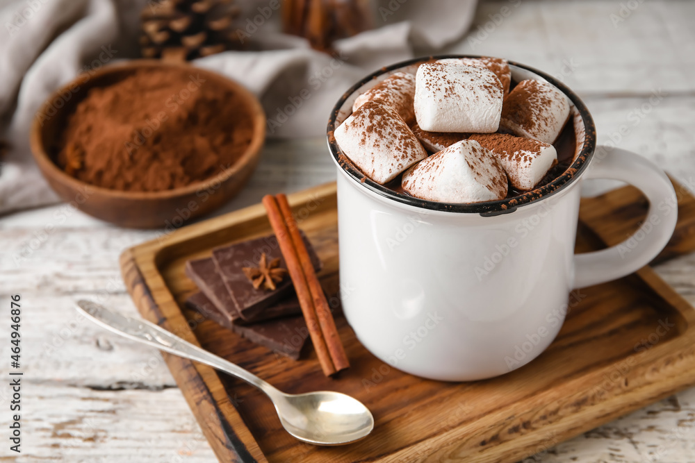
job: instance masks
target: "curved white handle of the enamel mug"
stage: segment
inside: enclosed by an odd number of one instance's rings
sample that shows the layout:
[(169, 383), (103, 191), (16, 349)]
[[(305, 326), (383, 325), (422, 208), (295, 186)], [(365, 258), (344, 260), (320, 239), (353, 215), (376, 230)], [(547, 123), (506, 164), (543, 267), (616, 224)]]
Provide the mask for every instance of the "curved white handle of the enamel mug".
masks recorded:
[(608, 249), (574, 256), (574, 287), (616, 280), (651, 262), (671, 239), (678, 219), (678, 201), (671, 180), (657, 165), (624, 149), (597, 150), (584, 178), (607, 178), (630, 183), (649, 200), (647, 217), (631, 237)]

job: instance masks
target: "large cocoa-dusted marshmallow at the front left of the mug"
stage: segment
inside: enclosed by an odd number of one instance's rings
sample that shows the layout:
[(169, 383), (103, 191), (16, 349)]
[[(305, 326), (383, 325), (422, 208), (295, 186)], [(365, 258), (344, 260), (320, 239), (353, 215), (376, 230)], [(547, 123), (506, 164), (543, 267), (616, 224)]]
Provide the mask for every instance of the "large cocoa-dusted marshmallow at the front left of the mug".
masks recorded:
[(343, 154), (376, 183), (389, 183), (427, 158), (427, 151), (391, 106), (367, 101), (334, 132)]

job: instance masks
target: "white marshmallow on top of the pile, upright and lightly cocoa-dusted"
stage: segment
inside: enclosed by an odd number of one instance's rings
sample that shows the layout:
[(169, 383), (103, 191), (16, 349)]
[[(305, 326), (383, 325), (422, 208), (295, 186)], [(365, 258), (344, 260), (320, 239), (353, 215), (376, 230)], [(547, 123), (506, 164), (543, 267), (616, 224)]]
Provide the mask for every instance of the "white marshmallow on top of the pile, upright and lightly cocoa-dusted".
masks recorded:
[(502, 83), (484, 67), (431, 62), (420, 65), (415, 115), (429, 132), (496, 132), (502, 112)]

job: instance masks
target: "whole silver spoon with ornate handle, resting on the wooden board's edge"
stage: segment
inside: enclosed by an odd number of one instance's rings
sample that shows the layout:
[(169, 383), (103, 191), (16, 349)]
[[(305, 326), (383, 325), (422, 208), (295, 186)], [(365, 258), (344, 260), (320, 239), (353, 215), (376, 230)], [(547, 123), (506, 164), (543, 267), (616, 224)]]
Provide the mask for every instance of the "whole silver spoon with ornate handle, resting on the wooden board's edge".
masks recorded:
[(357, 399), (340, 392), (285, 394), (258, 376), (186, 342), (149, 321), (126, 317), (91, 301), (78, 301), (88, 319), (133, 341), (209, 365), (258, 387), (270, 398), (283, 428), (300, 441), (320, 446), (348, 444), (366, 437), (374, 418)]

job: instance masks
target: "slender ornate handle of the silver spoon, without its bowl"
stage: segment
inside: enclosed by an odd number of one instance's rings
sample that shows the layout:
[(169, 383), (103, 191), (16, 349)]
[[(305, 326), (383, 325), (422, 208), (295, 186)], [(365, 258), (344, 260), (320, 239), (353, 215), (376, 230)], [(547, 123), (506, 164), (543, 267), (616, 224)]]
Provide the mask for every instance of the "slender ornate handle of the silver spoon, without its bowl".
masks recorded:
[(88, 319), (107, 330), (113, 331), (133, 341), (156, 347), (161, 351), (195, 360), (196, 362), (209, 365), (214, 369), (224, 371), (224, 373), (236, 376), (236, 378), (258, 387), (261, 391), (265, 392), (265, 394), (268, 394), (268, 396), (279, 392), (275, 387), (268, 384), (268, 382), (261, 380), (261, 378), (249, 371), (224, 360), (222, 357), (209, 353), (198, 346), (190, 344), (190, 342), (181, 339), (177, 335), (172, 334), (172, 332), (156, 326), (154, 323), (126, 317), (125, 315), (109, 310), (103, 305), (93, 303), (92, 301), (78, 301), (77, 310), (83, 312)]

